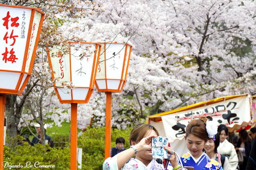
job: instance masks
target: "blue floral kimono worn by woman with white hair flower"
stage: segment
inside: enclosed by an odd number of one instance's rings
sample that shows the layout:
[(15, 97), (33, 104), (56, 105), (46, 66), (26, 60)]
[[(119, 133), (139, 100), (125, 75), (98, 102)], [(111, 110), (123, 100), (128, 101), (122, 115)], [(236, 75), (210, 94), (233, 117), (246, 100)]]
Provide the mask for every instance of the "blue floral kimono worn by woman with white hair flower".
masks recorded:
[[(223, 170), (222, 166), (216, 160), (210, 159), (205, 152), (203, 152), (198, 160), (190, 155), (189, 152), (186, 152), (178, 160), (178, 163), (183, 166), (193, 166), (195, 170)], [(168, 164), (167, 170), (172, 170), (170, 163)]]

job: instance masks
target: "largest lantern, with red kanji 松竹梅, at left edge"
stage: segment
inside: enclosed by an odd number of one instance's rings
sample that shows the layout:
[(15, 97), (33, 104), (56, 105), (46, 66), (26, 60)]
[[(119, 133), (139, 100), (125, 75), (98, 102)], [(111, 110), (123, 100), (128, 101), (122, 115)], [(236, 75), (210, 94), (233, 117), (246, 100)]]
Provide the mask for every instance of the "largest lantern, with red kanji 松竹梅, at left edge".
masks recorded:
[(44, 12), (0, 4), (0, 93), (21, 94), (31, 75)]

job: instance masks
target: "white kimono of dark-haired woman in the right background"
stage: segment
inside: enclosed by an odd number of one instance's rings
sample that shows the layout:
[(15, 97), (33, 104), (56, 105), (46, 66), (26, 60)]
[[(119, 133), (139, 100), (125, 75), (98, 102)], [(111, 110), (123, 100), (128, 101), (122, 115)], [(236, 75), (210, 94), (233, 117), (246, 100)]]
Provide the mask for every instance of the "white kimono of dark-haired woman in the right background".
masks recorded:
[(224, 142), (220, 143), (217, 150), (222, 155), (229, 155), (229, 168), (230, 170), (236, 170), (238, 166), (238, 157), (234, 145), (225, 139)]

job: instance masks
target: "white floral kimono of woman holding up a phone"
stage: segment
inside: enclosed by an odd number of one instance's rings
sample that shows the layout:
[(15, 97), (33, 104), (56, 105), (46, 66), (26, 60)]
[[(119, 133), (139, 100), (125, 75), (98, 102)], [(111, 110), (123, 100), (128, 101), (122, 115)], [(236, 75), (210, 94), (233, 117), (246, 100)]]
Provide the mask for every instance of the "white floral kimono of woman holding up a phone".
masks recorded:
[[(118, 170), (117, 156), (118, 154), (112, 158), (107, 158), (103, 163), (103, 170)], [(121, 170), (164, 170), (164, 166), (158, 164), (154, 159), (152, 159), (148, 166), (145, 166), (140, 160), (131, 158), (128, 163), (124, 164)]]

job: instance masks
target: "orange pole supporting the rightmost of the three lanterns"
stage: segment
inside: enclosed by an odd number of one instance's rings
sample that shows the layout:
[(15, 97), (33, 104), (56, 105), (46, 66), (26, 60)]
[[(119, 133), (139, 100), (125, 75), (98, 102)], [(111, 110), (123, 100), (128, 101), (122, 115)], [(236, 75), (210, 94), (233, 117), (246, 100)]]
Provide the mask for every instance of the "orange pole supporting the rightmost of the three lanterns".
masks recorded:
[(112, 92), (106, 92), (106, 136), (105, 136), (105, 160), (110, 157), (111, 146), (111, 116), (112, 116)]

